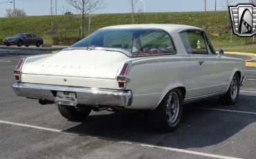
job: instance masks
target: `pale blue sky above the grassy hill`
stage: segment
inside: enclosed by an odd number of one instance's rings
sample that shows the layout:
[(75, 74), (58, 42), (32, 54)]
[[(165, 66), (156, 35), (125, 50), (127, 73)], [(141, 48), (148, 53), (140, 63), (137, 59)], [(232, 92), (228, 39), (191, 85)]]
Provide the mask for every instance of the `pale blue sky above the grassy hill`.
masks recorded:
[[(0, 0), (0, 17), (5, 17), (6, 9), (13, 8), (13, 0)], [(105, 8), (94, 13), (124, 13), (131, 12), (129, 0), (103, 0)], [(226, 0), (216, 0), (217, 10), (226, 10)], [(230, 5), (234, 6), (237, 3), (248, 3), (248, 0), (228, 0)], [(231, 2), (232, 1), (232, 2)], [(207, 0), (207, 10), (214, 10), (215, 0)], [(15, 0), (15, 7), (23, 9), (27, 15), (51, 15), (51, 0)], [(143, 2), (136, 3), (136, 12), (138, 9), (143, 9)], [(55, 0), (53, 0), (53, 9), (55, 12)], [(145, 5), (146, 12), (188, 12), (202, 11), (203, 0), (148, 0)], [(71, 11), (77, 13), (75, 9), (68, 6), (66, 0), (57, 0), (57, 14), (62, 15), (62, 12)]]

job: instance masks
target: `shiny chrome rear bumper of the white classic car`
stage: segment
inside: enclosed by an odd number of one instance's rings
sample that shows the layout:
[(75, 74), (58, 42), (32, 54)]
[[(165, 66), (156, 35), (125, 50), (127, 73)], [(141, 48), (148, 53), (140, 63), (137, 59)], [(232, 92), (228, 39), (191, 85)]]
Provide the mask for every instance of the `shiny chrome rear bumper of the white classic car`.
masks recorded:
[(12, 84), (12, 88), (18, 96), (52, 102), (55, 102), (58, 91), (76, 93), (77, 104), (90, 106), (130, 106), (132, 98), (131, 91), (125, 90), (26, 83)]

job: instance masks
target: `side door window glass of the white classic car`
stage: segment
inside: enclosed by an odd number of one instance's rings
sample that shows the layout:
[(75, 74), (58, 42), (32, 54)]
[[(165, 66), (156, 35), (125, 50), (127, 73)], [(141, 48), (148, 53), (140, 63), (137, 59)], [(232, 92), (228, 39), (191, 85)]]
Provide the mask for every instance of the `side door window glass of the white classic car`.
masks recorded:
[(188, 53), (209, 54), (203, 32), (181, 32), (181, 39)]

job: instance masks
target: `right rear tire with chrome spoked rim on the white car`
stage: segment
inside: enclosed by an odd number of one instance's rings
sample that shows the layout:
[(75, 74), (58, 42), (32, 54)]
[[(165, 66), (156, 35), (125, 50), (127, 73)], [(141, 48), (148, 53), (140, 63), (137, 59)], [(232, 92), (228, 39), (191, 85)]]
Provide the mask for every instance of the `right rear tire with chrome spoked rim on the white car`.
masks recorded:
[(173, 89), (163, 98), (154, 111), (149, 111), (149, 120), (158, 131), (172, 132), (181, 121), (183, 95), (180, 89)]

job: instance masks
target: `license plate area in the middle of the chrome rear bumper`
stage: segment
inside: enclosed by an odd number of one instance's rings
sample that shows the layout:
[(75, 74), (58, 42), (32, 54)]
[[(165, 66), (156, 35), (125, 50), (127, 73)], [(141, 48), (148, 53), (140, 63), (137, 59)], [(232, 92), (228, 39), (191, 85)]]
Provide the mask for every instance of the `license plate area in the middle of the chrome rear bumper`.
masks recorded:
[(72, 92), (57, 92), (55, 97), (55, 103), (66, 106), (76, 106), (77, 97), (75, 93)]

